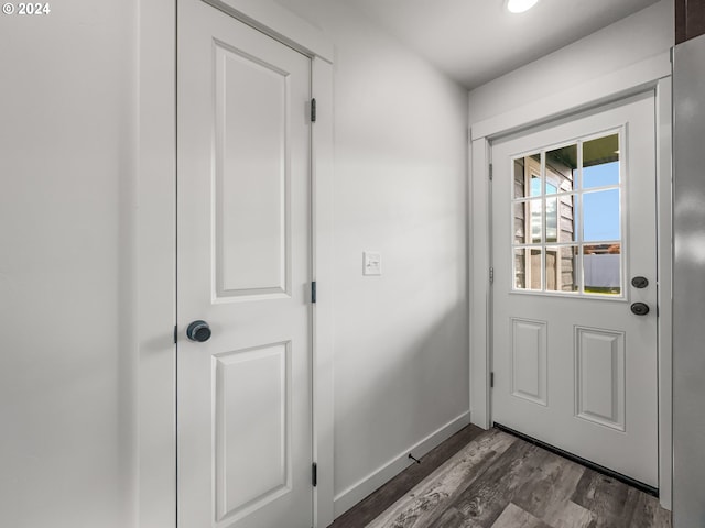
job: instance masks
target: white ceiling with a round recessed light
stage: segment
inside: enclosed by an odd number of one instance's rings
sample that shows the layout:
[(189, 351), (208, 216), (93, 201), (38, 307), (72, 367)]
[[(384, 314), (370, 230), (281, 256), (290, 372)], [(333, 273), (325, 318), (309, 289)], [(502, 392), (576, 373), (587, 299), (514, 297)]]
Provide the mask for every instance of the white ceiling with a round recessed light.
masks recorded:
[(471, 89), (658, 0), (541, 0), (522, 14), (503, 0), (339, 1)]

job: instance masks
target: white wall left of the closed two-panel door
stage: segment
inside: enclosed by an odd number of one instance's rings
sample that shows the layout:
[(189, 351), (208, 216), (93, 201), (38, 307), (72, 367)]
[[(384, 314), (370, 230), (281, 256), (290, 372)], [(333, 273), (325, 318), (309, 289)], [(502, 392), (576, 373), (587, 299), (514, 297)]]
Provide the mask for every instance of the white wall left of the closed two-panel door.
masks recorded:
[(133, 526), (135, 2), (0, 15), (0, 526)]

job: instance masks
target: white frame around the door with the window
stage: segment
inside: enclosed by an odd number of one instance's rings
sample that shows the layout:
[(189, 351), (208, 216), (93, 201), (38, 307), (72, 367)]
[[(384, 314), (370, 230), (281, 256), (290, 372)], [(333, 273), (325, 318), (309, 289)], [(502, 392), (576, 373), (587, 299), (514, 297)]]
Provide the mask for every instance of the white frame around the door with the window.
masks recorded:
[(671, 57), (663, 53), (612, 74), (552, 95), (507, 113), (470, 123), (470, 417), (491, 426), (491, 289), (489, 267), (491, 140), (577, 112), (653, 91), (657, 108), (657, 262), (659, 285), (659, 490), (661, 505), (672, 497), (672, 193)]

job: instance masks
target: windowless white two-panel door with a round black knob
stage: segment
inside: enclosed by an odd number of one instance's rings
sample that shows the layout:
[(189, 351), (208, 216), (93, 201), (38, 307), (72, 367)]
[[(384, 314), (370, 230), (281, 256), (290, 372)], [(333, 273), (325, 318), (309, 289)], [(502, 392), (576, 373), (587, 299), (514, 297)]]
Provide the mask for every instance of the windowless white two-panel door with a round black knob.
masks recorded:
[(310, 98), (307, 57), (180, 0), (182, 528), (313, 526)]

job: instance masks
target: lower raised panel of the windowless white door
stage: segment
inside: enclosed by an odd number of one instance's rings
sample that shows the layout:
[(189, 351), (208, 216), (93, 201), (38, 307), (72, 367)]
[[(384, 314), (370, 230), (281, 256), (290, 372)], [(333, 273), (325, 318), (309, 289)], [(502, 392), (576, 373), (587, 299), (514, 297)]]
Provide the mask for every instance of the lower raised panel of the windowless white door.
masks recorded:
[(218, 521), (291, 490), (291, 343), (214, 356)]

